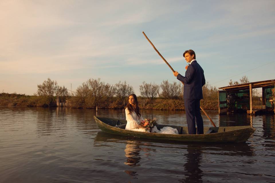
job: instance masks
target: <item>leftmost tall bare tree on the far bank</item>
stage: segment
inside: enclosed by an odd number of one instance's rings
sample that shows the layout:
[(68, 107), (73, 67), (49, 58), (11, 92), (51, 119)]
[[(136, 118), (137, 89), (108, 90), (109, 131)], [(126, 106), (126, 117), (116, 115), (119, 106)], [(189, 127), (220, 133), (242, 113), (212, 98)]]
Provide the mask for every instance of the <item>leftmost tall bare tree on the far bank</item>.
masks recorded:
[(39, 96), (44, 96), (48, 106), (50, 106), (54, 101), (53, 96), (57, 87), (58, 86), (56, 81), (52, 81), (50, 78), (48, 78), (42, 84), (37, 85), (37, 94)]

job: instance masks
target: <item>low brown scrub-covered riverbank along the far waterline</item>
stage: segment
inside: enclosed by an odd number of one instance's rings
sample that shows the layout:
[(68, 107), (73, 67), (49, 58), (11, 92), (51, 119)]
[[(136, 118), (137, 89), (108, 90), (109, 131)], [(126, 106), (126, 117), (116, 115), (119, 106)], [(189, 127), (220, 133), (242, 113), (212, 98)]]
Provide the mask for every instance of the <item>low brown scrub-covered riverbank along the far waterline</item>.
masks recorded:
[[(70, 108), (95, 108), (93, 104), (83, 103), (78, 97), (70, 96)], [(52, 101), (55, 101), (55, 97)], [(165, 99), (165, 98), (148, 98), (138, 97), (139, 107), (150, 110), (185, 110), (183, 99)], [(125, 100), (127, 102), (127, 100)], [(125, 103), (126, 104), (126, 103)], [(28, 106), (28, 107), (48, 107), (43, 96), (28, 96), (25, 94), (0, 94), (0, 106)], [(52, 102), (50, 106), (56, 106)], [(205, 110), (218, 110), (216, 100), (201, 100), (201, 106)], [(124, 104), (119, 98), (112, 97), (99, 105), (101, 109), (122, 109)]]

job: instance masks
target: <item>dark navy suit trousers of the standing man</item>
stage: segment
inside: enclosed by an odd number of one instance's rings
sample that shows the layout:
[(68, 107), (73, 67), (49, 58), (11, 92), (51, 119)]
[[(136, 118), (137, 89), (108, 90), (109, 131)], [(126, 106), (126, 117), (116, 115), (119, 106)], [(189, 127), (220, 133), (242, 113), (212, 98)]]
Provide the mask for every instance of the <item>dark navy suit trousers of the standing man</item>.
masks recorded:
[[(203, 134), (203, 118), (201, 117), (200, 99), (184, 99), (188, 134)], [(196, 122), (196, 123), (195, 123)]]

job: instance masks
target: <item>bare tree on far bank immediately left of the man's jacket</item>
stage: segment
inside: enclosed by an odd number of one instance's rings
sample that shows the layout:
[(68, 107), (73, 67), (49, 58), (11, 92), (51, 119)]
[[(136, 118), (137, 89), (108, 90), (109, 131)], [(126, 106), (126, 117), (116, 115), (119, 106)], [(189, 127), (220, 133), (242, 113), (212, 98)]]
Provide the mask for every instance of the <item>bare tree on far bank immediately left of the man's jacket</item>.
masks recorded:
[(163, 80), (160, 84), (162, 89), (161, 96), (167, 99), (179, 98), (182, 93), (181, 83), (169, 83), (168, 80)]

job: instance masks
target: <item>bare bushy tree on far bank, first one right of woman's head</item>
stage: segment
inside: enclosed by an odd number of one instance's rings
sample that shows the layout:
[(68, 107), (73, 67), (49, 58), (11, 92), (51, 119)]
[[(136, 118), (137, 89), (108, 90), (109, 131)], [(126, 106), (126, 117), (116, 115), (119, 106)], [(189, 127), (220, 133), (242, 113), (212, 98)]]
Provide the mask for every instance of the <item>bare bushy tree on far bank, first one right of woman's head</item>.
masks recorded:
[(142, 85), (140, 85), (140, 94), (143, 97), (147, 97), (148, 99), (153, 99), (157, 96), (158, 90), (160, 89), (160, 86), (155, 83), (145, 83), (145, 81), (142, 82)]

